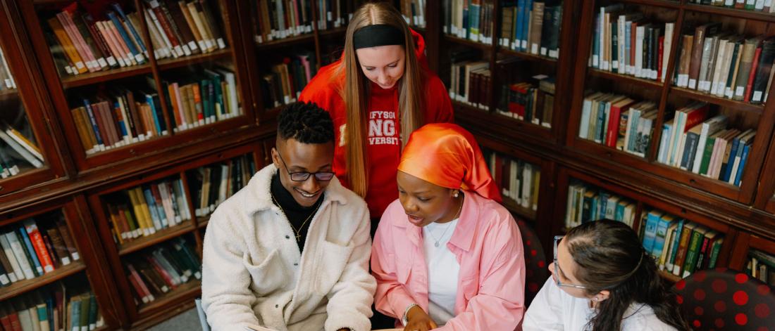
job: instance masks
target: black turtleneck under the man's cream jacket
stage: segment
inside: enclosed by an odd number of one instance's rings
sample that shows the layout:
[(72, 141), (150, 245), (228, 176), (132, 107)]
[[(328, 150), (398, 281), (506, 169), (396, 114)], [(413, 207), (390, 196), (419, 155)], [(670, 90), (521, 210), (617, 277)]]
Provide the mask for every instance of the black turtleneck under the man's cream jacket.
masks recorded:
[[(320, 203), (323, 201), (323, 196), (321, 195), (318, 202), (312, 206), (301, 206), (280, 182), (280, 175), (277, 172), (272, 176), (270, 192), (272, 193), (272, 196), (274, 196), (273, 203), (283, 210), (285, 217), (288, 217), (288, 221), (291, 222), (291, 227), (293, 227), (291, 230), (294, 231), (294, 234), (291, 235), (291, 240), (295, 240), (295, 231), (298, 230), (300, 237), (299, 240), (296, 241), (296, 244), (298, 244), (298, 251), (301, 252), (304, 249), (304, 242), (307, 240), (309, 224), (312, 223), (312, 218), (314, 217), (312, 214), (317, 212), (318, 206), (320, 206)], [(307, 220), (307, 218), (309, 218), (309, 220)]]

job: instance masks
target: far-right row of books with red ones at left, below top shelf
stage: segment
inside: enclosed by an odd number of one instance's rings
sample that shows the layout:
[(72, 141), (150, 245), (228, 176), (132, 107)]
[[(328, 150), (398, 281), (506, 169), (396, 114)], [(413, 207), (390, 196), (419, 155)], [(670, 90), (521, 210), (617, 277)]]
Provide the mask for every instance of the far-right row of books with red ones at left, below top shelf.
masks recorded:
[(657, 161), (740, 186), (756, 130), (728, 126), (725, 115), (709, 116), (708, 104), (680, 108), (663, 124)]

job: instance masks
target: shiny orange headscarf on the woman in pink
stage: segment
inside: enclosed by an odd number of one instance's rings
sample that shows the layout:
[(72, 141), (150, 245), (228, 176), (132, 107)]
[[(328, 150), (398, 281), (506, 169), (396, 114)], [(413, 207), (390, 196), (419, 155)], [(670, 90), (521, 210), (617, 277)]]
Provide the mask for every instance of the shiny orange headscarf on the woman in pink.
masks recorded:
[(398, 170), (448, 189), (501, 202), (474, 135), (450, 123), (425, 125), (409, 136)]

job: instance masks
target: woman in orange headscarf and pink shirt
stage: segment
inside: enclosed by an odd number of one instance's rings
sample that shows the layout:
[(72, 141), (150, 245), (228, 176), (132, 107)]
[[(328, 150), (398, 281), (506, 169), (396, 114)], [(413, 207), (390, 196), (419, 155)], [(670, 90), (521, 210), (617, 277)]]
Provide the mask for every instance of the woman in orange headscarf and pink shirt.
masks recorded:
[(371, 247), (377, 310), (405, 330), (515, 329), (525, 311), (522, 237), (473, 135), (419, 128), (397, 179)]

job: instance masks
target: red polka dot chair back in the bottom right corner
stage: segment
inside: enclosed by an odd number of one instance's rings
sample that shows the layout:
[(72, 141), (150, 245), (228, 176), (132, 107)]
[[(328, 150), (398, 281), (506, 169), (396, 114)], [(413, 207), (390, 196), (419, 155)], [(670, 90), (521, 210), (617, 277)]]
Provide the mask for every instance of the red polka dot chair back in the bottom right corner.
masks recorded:
[(695, 330), (775, 331), (773, 288), (742, 272), (697, 271), (673, 288)]

